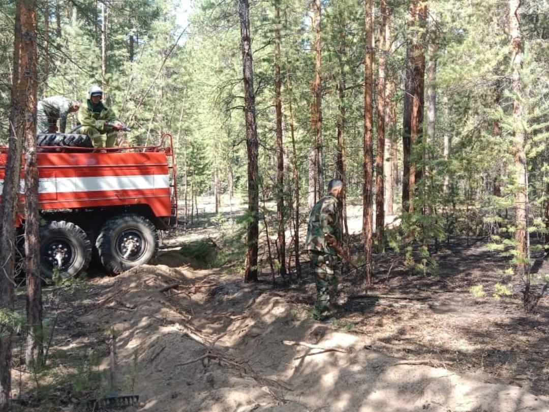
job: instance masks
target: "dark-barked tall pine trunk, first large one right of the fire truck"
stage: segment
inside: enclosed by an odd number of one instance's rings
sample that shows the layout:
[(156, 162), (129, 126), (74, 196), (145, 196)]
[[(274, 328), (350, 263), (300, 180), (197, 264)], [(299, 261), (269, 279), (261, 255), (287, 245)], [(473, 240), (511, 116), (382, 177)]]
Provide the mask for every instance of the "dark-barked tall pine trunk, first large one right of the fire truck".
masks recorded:
[(257, 241), (259, 240), (259, 141), (255, 121), (254, 71), (251, 55), (250, 5), (248, 0), (238, 1), (240, 42), (242, 44), (242, 70), (244, 75), (244, 121), (248, 151), (248, 239), (245, 282), (257, 281)]

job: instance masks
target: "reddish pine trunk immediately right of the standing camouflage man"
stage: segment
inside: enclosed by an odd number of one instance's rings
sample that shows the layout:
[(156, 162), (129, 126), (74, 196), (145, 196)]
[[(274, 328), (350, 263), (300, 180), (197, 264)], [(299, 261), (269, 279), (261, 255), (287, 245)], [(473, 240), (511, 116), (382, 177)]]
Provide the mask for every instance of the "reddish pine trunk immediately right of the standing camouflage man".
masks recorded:
[(363, 187), (363, 214), (362, 235), (364, 239), (364, 258), (366, 263), (366, 284), (372, 283), (372, 243), (373, 243), (373, 0), (365, 2), (365, 40), (364, 55), (364, 187)]

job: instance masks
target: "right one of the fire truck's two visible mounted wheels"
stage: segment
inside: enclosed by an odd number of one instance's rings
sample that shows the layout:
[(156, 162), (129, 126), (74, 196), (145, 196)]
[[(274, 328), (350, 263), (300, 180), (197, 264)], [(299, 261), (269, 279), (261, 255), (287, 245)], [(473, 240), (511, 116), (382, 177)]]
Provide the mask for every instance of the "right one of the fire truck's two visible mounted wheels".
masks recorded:
[(156, 228), (144, 216), (128, 213), (108, 220), (96, 241), (103, 266), (113, 273), (144, 265), (158, 247)]

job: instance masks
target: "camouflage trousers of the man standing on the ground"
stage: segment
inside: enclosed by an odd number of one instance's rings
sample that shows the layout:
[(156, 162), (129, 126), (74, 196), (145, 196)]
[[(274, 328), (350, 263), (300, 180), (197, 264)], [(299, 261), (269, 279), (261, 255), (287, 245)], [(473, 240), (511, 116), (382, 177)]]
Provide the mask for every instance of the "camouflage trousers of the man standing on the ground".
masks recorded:
[(339, 277), (341, 276), (341, 259), (330, 254), (309, 252), (313, 270), (317, 301), (315, 308), (320, 312), (330, 310), (330, 302), (336, 303)]

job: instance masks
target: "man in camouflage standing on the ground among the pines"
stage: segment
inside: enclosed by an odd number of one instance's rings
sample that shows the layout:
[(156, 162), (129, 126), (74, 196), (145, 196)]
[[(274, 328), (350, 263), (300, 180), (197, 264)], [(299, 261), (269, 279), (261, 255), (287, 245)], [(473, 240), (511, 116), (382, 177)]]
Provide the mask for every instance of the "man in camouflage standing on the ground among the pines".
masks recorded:
[(332, 179), (328, 183), (328, 193), (320, 199), (309, 214), (306, 248), (315, 271), (315, 284), (318, 292), (313, 308), (315, 319), (322, 319), (334, 305), (338, 281), (341, 275), (341, 251), (343, 229), (338, 215), (339, 200), (343, 197), (343, 182)]

